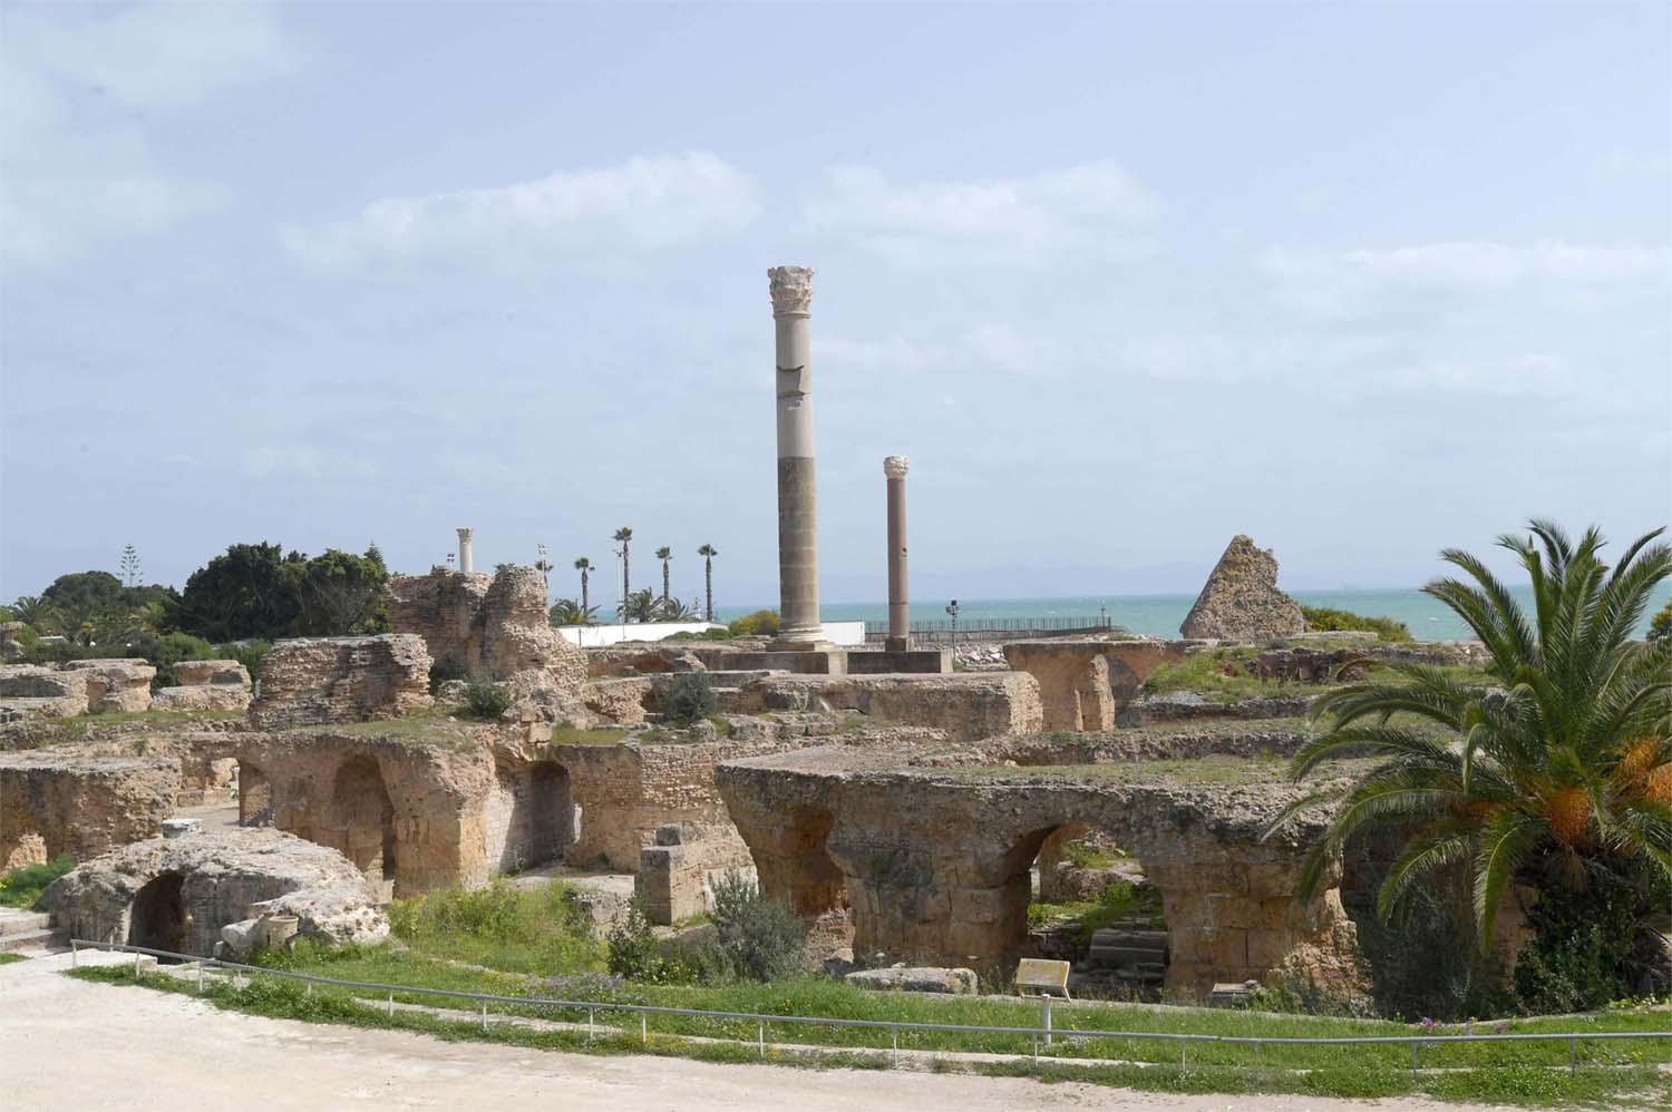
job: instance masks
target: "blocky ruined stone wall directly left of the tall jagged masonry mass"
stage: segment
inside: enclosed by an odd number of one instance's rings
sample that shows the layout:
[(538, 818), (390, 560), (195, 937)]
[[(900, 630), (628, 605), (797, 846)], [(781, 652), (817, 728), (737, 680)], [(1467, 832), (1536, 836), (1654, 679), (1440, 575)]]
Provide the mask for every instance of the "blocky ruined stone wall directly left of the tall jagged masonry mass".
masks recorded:
[(257, 729), (400, 717), (430, 706), (430, 654), (416, 634), (279, 640), (261, 666)]

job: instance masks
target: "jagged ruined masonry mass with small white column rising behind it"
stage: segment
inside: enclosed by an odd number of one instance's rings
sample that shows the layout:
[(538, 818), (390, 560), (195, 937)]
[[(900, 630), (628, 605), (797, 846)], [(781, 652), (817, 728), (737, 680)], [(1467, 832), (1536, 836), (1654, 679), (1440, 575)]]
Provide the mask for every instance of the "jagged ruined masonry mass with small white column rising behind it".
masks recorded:
[(587, 682), (587, 654), (552, 629), (537, 569), (507, 565), (492, 577), (435, 569), (396, 575), (390, 594), (391, 625), (423, 637), (445, 669), (505, 681), (545, 707), (573, 704)]

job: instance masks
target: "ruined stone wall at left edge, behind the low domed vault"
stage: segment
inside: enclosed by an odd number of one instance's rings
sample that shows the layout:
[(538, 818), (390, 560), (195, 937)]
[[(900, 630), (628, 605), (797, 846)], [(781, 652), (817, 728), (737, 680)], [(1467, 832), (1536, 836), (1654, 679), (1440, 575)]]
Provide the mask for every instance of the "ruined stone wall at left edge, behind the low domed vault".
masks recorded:
[(0, 870), (152, 838), (179, 788), (181, 766), (166, 757), (0, 754)]

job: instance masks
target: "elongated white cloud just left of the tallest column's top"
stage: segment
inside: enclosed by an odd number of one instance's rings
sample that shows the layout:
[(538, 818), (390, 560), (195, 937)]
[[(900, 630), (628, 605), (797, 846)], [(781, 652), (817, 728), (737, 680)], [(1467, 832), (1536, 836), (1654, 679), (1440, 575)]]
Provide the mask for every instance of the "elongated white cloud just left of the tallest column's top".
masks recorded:
[(523, 269), (684, 247), (761, 212), (752, 177), (707, 152), (558, 171), (512, 186), (385, 197), (354, 217), (286, 226), (298, 258), (336, 268), (472, 263)]

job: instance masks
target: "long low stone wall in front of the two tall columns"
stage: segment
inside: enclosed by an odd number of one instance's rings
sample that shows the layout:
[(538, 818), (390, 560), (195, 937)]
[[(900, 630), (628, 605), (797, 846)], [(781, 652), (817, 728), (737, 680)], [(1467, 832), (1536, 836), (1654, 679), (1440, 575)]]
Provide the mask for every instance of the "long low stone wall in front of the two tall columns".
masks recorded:
[(901, 726), (926, 726), (953, 741), (1042, 729), (1038, 682), (1025, 672), (953, 676), (769, 676), (744, 684), (722, 707), (759, 711), (856, 711)]

